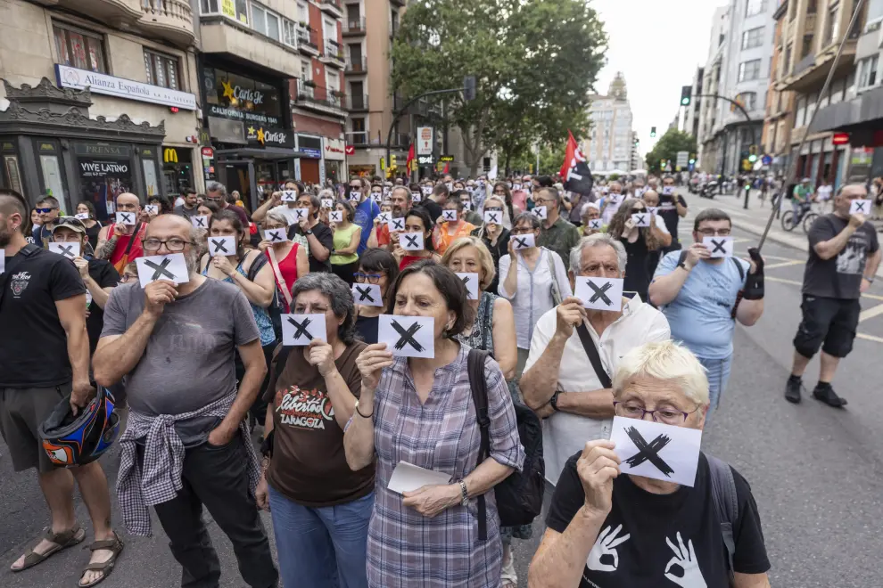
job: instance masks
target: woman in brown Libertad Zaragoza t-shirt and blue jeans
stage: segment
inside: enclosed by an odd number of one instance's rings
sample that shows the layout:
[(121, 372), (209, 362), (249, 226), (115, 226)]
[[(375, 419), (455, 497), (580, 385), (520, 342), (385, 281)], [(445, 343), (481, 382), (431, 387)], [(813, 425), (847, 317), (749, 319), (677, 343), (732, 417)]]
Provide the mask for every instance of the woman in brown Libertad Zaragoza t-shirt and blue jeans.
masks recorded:
[(292, 313), (325, 314), (326, 340), (276, 350), (264, 394), (269, 451), (258, 505), (272, 513), (285, 586), (367, 588), (374, 465), (352, 471), (343, 452), (343, 427), (361, 392), (356, 358), (366, 344), (355, 339), (350, 287), (338, 276), (301, 276), (292, 294)]

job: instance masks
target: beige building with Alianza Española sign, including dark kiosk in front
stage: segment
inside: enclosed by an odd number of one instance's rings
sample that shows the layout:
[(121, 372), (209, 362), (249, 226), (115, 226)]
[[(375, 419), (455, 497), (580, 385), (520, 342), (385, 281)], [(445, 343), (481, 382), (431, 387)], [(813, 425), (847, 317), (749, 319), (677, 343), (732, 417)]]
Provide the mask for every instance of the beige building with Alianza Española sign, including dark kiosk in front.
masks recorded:
[[(0, 185), (69, 212), (202, 189), (186, 0), (0, 1)], [(88, 89), (87, 89), (88, 87)]]

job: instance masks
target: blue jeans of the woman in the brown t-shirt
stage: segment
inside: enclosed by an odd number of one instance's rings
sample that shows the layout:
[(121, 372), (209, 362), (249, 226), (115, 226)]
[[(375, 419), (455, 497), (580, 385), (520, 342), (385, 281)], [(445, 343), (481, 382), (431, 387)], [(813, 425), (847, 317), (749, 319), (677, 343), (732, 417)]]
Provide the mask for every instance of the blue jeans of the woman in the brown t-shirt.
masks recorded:
[(367, 588), (367, 527), (374, 493), (310, 508), (269, 486), (270, 513), (285, 588)]

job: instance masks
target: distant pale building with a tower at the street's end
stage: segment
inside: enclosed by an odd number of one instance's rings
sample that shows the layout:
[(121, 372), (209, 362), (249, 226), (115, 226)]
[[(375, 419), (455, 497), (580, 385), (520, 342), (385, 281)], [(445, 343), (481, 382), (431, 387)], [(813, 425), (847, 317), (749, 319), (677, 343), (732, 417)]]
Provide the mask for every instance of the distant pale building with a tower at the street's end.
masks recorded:
[(582, 153), (597, 174), (631, 171), (634, 140), (628, 88), (622, 72), (617, 72), (607, 95), (589, 96), (589, 136), (582, 142)]

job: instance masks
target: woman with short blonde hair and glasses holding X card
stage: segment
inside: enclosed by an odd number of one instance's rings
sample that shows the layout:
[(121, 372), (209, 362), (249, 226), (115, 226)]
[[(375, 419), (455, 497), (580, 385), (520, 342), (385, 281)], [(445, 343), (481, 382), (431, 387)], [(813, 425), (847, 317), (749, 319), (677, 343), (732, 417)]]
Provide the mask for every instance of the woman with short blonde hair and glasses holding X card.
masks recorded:
[(672, 341), (647, 343), (623, 356), (613, 387), (617, 441), (590, 441), (565, 464), (528, 585), (769, 587), (751, 488), (698, 449), (702, 364)]

